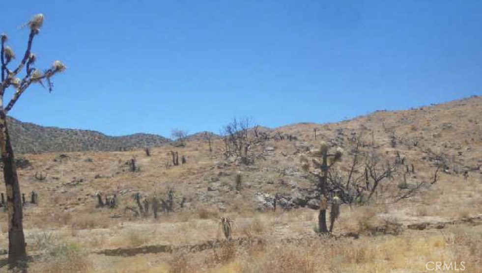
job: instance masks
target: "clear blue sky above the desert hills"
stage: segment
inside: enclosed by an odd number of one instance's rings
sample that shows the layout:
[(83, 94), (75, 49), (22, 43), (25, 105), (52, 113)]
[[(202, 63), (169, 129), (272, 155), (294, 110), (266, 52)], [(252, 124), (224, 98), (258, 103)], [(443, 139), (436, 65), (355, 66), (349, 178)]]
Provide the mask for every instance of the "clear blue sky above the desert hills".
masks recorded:
[(36, 13), (39, 66), (22, 121), (170, 135), (232, 117), (277, 127), (332, 122), (482, 92), (480, 0), (15, 0), (0, 31), (18, 55)]

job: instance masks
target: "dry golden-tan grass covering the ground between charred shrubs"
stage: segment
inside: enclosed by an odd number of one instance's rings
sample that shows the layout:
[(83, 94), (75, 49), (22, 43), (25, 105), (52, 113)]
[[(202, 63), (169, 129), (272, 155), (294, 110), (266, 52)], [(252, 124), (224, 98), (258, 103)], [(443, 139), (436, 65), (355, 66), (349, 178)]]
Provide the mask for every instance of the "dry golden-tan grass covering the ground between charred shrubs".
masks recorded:
[[(327, 124), (319, 131), (319, 139), (329, 139), (339, 128), (344, 132), (359, 132), (361, 125), (375, 130), (375, 142), (382, 154), (394, 154), (389, 147), (391, 131), (403, 139), (423, 139), (418, 147), (407, 148), (400, 144), (397, 150), (407, 161), (414, 163), (416, 173), (408, 178), (429, 181), (433, 174), (433, 162), (423, 159), (422, 149), (444, 152), (467, 166), (476, 166), (482, 157), (478, 136), (461, 134), (463, 130), (479, 132), (479, 127), (467, 120), (477, 120), (481, 115), (480, 99), (465, 105), (437, 106), (437, 111), (415, 110), (378, 112), (343, 123)], [(467, 118), (458, 118), (454, 109), (463, 111)], [(403, 123), (400, 120), (410, 122)], [(457, 124), (460, 130), (440, 133), (442, 122)], [(380, 126), (383, 124), (383, 127)], [(385, 187), (372, 204), (349, 209), (342, 206), (341, 216), (335, 223), (335, 233), (361, 233), (360, 240), (331, 239), (313, 242), (280, 243), (284, 238), (311, 238), (316, 224), (316, 211), (297, 209), (276, 213), (257, 213), (255, 192), (291, 194), (296, 187), (311, 185), (308, 179), (287, 175), (284, 170), (297, 169), (303, 149), (317, 145), (312, 139), (313, 128), (319, 124), (296, 124), (278, 128), (283, 134), (292, 134), (300, 141), (271, 141), (266, 145), (275, 153), (258, 160), (254, 165), (230, 164), (221, 168), (216, 162), (226, 159), (221, 153), (223, 144), (215, 141), (213, 153), (207, 151), (204, 142), (188, 142), (185, 148), (171, 146), (151, 150), (145, 157), (142, 150), (112, 153), (66, 153), (68, 159), (53, 161), (58, 153), (25, 155), (31, 168), (20, 169), (23, 192), (37, 191), (40, 204), (24, 210), (28, 251), (40, 251), (43, 256), (33, 265), (40, 272), (186, 272), (186, 273), (284, 273), (284, 272), (423, 272), (429, 260), (465, 261), (466, 272), (481, 271), (482, 240), (479, 227), (458, 227), (440, 231), (404, 230), (400, 234), (399, 223), (431, 218), (464, 218), (481, 213), (482, 183), (478, 171), (471, 171), (464, 180), (461, 174), (439, 173), (439, 181), (431, 188), (401, 202), (384, 206), (387, 196), (398, 190), (399, 179)], [(415, 128), (415, 129), (414, 129)], [(371, 131), (370, 131), (371, 132)], [(369, 136), (369, 132), (365, 132)], [(470, 135), (470, 136), (469, 136)], [(371, 139), (369, 139), (371, 141)], [(444, 145), (452, 145), (446, 148)], [(456, 146), (460, 146), (457, 148)], [(470, 149), (466, 149), (470, 148)], [(256, 149), (254, 147), (253, 149)], [(169, 151), (176, 150), (188, 158), (188, 164), (165, 168), (170, 161)], [(462, 156), (458, 152), (463, 152)], [(259, 151), (257, 151), (259, 152)], [(85, 159), (92, 158), (93, 162)], [(136, 158), (141, 172), (125, 170), (124, 162)], [(337, 165), (345, 175), (349, 160)], [(243, 189), (235, 192), (227, 184), (237, 171), (243, 171)], [(48, 174), (45, 181), (36, 181), (35, 171)], [(84, 179), (76, 185), (73, 178)], [(218, 180), (216, 180), (218, 179)], [(398, 180), (397, 180), (398, 179)], [(219, 181), (220, 189), (207, 191), (209, 183)], [(294, 188), (287, 182), (294, 182)], [(393, 186), (393, 187), (392, 187)], [(232, 187), (231, 187), (232, 188)], [(132, 194), (142, 193), (151, 197), (155, 193), (165, 196), (167, 189), (175, 191), (175, 212), (161, 213), (153, 219), (134, 216), (125, 212), (132, 201)], [(119, 206), (114, 209), (95, 208), (94, 193), (119, 193)], [(381, 190), (380, 190), (381, 191)], [(122, 192), (122, 194), (120, 194)], [(385, 194), (385, 195), (384, 195)], [(185, 208), (179, 201), (186, 197)], [(222, 208), (222, 212), (220, 210)], [(163, 255), (139, 255), (136, 257), (107, 257), (87, 254), (94, 249), (136, 247), (142, 245), (197, 244), (222, 239), (219, 217), (234, 219), (233, 238), (262, 238), (264, 244), (252, 246), (225, 246), (199, 253), (173, 253)], [(6, 214), (0, 214), (0, 247), (6, 248)], [(390, 236), (385, 236), (391, 234)], [(380, 235), (380, 236), (372, 236)], [(397, 236), (392, 236), (397, 235)], [(63, 245), (62, 245), (63, 244)], [(49, 250), (56, 246), (57, 250)], [(105, 266), (106, 264), (112, 267)]]

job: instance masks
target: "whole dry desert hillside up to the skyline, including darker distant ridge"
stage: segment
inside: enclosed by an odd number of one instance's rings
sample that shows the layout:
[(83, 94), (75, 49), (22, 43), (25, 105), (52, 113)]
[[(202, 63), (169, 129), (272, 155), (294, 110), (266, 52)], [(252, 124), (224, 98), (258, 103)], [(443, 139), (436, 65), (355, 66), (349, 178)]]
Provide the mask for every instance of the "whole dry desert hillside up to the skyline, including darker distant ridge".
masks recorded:
[[(36, 260), (39, 272), (56, 272), (55, 264), (78, 272), (423, 272), (427, 260), (442, 258), (463, 259), (467, 270), (479, 272), (481, 116), (482, 97), (471, 97), (338, 123), (262, 128), (262, 137), (252, 129), (255, 140), (244, 161), (226, 156), (219, 137), (210, 151), (203, 134), (147, 155), (141, 147), (165, 139), (113, 139), (12, 120), (16, 149), (55, 151), (18, 156), (29, 253), (47, 255), (47, 245), (75, 248), (74, 254), (48, 252), (56, 262)], [(324, 239), (314, 230), (320, 192), (313, 161), (320, 141), (329, 151), (343, 150), (329, 176), (343, 193), (340, 218), (334, 237)], [(393, 168), (371, 196), (367, 168), (385, 172), (387, 165)], [(29, 202), (32, 191), (38, 204)], [(158, 218), (135, 198), (164, 203), (169, 192), (172, 210)], [(112, 207), (104, 204), (114, 195)], [(234, 221), (236, 245), (212, 250), (224, 238), (220, 217)], [(1, 218), (6, 238), (6, 215)], [(7, 248), (6, 240), (0, 248)]]

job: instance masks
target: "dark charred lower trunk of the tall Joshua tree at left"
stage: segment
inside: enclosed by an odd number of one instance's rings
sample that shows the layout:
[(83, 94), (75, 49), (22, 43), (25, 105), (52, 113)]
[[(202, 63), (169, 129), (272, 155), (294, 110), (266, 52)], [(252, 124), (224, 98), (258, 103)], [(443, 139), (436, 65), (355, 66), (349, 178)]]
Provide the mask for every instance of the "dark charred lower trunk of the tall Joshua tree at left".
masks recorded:
[(13, 268), (24, 265), (27, 259), (27, 252), (25, 250), (26, 244), (22, 224), (22, 194), (20, 193), (13, 149), (3, 109), (0, 110), (0, 146), (7, 196), (8, 264), (10, 268)]

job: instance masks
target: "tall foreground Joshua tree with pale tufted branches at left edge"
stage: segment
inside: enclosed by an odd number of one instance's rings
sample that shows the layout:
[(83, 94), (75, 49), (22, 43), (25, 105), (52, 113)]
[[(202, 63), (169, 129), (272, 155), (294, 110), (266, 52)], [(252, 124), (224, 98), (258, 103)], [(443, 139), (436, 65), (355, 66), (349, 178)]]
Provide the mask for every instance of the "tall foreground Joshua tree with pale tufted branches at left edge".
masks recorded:
[[(37, 56), (31, 52), (32, 42), (35, 36), (40, 33), (40, 28), (44, 22), (42, 14), (35, 15), (26, 25), (30, 29), (28, 35), (27, 50), (13, 70), (8, 66), (15, 58), (14, 51), (6, 46), (8, 37), (1, 34), (1, 85), (0, 102), (3, 102), (3, 95), (8, 87), (13, 87), (15, 93), (6, 105), (0, 103), (0, 150), (3, 158), (3, 177), (7, 189), (8, 207), (8, 263), (10, 268), (23, 265), (27, 258), (25, 250), (25, 236), (22, 223), (22, 200), (20, 185), (18, 181), (17, 169), (15, 166), (14, 154), (11, 145), (10, 135), (7, 128), (7, 114), (13, 108), (20, 96), (28, 89), (32, 83), (44, 85), (43, 80), (47, 81), (49, 91), (52, 91), (52, 77), (65, 70), (65, 65), (60, 61), (55, 61), (51, 68), (39, 70), (34, 67)], [(19, 74), (25, 68), (25, 75), (22, 79)], [(5, 106), (4, 106), (5, 105)]]

